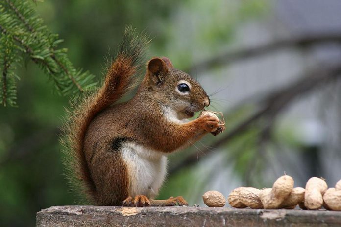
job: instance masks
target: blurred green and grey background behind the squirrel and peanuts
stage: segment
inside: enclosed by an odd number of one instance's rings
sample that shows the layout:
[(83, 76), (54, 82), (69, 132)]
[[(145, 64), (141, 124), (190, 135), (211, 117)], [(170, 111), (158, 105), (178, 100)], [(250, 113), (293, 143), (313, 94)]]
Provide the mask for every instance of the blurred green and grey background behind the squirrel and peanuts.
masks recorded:
[[(32, 3), (33, 4), (33, 3)], [(34, 6), (76, 67), (100, 81), (125, 25), (153, 38), (212, 94), (227, 130), (169, 157), (160, 198), (190, 205), (218, 190), (270, 187), (284, 172), (305, 186), (341, 178), (341, 1), (46, 0)], [(34, 226), (37, 211), (77, 204), (63, 175), (60, 126), (70, 97), (32, 62), (18, 69), (18, 108), (0, 107), (0, 226)]]

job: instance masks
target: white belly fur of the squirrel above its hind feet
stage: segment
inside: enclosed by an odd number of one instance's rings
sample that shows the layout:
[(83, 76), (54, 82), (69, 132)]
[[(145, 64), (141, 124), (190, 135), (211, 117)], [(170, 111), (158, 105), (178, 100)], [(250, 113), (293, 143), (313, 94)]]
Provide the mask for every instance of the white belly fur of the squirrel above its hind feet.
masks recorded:
[(122, 144), (121, 154), (129, 175), (129, 196), (155, 198), (166, 176), (164, 153), (146, 149), (134, 142)]

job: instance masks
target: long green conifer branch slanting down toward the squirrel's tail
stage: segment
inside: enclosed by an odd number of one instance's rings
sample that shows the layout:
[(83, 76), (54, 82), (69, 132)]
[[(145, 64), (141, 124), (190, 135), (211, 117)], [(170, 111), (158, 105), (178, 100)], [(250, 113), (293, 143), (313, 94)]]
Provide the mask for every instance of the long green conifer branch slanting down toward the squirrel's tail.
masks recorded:
[(0, 35), (12, 37), (17, 43), (14, 48), (28, 55), (48, 74), (60, 94), (83, 92), (96, 85), (93, 74), (82, 72), (82, 69), (76, 70), (66, 56), (67, 50), (58, 49), (62, 40), (58, 39), (58, 35), (50, 33), (27, 0), (2, 1)]

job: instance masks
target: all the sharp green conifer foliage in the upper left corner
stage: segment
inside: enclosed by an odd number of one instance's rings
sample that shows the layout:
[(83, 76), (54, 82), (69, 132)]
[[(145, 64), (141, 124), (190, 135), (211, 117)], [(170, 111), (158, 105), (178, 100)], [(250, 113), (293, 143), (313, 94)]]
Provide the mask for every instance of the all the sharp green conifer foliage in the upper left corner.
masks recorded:
[[(37, 1), (37, 0), (33, 0)], [(16, 68), (22, 57), (32, 60), (61, 95), (91, 90), (94, 75), (74, 68), (63, 40), (44, 25), (29, 0), (0, 0), (0, 104), (16, 106)]]

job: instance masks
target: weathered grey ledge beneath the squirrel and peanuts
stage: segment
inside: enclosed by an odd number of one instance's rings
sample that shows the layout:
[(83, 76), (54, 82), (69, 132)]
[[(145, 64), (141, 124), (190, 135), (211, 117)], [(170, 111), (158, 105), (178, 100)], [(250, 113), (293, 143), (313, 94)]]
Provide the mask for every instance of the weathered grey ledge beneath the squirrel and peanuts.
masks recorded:
[(37, 227), (340, 227), (341, 212), (195, 207), (52, 206)]

